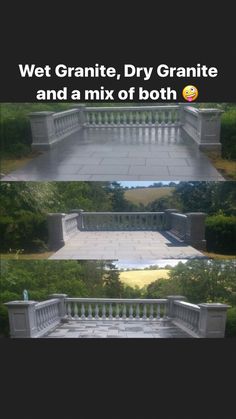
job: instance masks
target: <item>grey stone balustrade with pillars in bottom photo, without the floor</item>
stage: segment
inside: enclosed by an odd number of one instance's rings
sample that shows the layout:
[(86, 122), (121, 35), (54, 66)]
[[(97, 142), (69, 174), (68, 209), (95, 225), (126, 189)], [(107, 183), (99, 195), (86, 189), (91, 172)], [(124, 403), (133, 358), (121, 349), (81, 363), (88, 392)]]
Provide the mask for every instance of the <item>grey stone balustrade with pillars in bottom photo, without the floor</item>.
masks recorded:
[(11, 301), (8, 308), (10, 335), (37, 338), (60, 323), (70, 321), (173, 322), (193, 337), (222, 338), (228, 305), (191, 304), (171, 295), (166, 299), (68, 298), (53, 294), (50, 300)]

